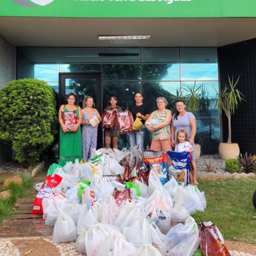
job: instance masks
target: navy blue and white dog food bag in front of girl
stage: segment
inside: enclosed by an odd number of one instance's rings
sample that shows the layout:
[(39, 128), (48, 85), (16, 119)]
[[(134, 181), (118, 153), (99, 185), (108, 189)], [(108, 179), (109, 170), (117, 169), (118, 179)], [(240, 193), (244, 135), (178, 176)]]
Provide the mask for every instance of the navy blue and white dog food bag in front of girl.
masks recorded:
[(172, 160), (172, 166), (169, 168), (169, 176), (172, 176), (179, 185), (189, 185), (189, 159), (188, 152), (167, 151)]

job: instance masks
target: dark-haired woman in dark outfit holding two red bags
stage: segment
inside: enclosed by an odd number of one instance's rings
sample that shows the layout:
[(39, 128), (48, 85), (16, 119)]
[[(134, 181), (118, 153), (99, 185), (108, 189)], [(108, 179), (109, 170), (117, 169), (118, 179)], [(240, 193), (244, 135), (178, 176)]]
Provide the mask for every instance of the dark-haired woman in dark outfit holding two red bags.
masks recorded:
[[(116, 96), (111, 96), (109, 102), (111, 105), (106, 107), (105, 110), (122, 112), (122, 107), (116, 106), (116, 104), (117, 104)], [(119, 128), (118, 128), (118, 124), (117, 124), (117, 114), (115, 114), (114, 127), (112, 129), (105, 128), (105, 148), (109, 149), (110, 143), (111, 143), (111, 138), (112, 138), (113, 149), (117, 149), (118, 136), (119, 136)]]

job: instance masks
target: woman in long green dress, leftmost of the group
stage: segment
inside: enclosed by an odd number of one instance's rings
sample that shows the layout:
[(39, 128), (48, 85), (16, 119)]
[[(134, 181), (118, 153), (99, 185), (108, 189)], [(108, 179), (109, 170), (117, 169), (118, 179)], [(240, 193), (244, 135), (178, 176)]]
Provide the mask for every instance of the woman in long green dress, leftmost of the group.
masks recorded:
[[(67, 105), (62, 105), (59, 110), (60, 130), (60, 158), (59, 165), (64, 166), (66, 162), (75, 163), (83, 158), (81, 128), (82, 112), (81, 108), (75, 106), (76, 96), (73, 92), (67, 95)], [(71, 116), (71, 123), (67, 121), (66, 116)], [(73, 122), (73, 120), (76, 120)]]

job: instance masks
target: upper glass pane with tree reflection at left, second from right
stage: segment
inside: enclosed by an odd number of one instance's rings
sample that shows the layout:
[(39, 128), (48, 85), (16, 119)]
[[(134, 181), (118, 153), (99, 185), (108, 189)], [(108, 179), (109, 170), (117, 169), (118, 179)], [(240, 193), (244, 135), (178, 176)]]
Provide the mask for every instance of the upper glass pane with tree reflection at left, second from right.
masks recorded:
[(179, 81), (178, 48), (143, 48), (142, 49), (143, 81)]

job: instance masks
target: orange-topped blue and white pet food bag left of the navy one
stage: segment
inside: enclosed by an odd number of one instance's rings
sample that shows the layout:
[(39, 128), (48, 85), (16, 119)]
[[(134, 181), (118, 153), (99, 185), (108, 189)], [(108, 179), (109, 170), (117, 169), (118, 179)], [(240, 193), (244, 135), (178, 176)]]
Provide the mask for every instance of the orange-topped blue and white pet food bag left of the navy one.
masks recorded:
[(155, 174), (158, 174), (162, 185), (170, 180), (165, 154), (157, 157), (143, 158), (143, 162), (148, 164), (150, 172), (153, 171)]

